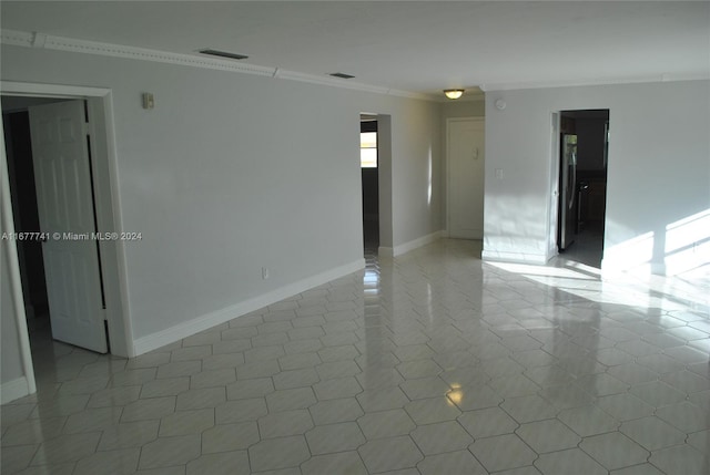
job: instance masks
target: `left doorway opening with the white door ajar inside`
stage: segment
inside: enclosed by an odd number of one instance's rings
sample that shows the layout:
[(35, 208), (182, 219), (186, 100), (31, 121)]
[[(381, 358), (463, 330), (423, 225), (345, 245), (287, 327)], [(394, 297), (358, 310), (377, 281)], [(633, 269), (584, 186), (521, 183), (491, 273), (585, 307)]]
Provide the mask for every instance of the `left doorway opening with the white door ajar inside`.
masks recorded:
[(38, 362), (53, 360), (47, 354), (70, 350), (67, 344), (110, 352), (88, 103), (4, 96), (2, 113), (36, 372)]

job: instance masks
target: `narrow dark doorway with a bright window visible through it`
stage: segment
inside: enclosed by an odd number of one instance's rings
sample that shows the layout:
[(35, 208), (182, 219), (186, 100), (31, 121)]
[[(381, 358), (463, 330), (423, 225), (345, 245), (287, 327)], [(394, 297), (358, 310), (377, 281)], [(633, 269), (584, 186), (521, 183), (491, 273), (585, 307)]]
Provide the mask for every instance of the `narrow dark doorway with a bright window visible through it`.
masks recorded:
[(363, 180), (363, 242), (365, 256), (379, 249), (379, 164), (376, 115), (361, 114), (359, 155)]

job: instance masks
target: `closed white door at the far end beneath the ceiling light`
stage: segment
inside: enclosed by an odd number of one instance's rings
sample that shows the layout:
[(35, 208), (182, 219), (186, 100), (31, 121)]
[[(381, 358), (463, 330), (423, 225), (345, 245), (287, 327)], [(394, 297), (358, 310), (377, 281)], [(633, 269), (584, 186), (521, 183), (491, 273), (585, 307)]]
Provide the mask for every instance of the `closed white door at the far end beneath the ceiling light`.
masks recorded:
[(447, 123), (448, 233), (483, 239), (485, 130), (480, 118)]

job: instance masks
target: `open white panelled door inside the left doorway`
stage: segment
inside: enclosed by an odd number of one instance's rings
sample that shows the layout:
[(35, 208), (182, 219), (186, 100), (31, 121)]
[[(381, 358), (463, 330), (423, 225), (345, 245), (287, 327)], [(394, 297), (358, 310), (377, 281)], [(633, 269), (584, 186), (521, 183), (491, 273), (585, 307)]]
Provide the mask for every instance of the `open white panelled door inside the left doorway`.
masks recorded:
[(50, 236), (42, 252), (52, 337), (105, 353), (83, 101), (29, 113), (40, 227)]

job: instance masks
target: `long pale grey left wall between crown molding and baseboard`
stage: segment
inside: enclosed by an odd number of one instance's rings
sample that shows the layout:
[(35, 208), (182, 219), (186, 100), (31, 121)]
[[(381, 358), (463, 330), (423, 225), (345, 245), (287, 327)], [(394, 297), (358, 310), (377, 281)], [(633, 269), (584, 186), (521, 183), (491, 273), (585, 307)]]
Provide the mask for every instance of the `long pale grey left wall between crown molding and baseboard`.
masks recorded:
[(125, 249), (139, 351), (363, 265), (363, 111), (392, 116), (394, 242), (440, 229), (436, 103), (7, 45), (1, 71), (113, 91), (121, 219), (143, 235)]

